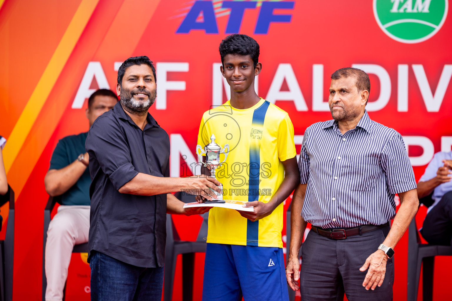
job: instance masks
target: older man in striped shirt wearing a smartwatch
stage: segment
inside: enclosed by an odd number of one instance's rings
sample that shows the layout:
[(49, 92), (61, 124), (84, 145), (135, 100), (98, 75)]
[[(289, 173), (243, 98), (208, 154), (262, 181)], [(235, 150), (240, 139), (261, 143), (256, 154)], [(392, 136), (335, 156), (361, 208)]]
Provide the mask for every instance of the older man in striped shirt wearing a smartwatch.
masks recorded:
[[(329, 97), (334, 120), (315, 123), (304, 134), (286, 269), (289, 286), (301, 289), (303, 301), (342, 300), (344, 292), (350, 301), (392, 300), (393, 249), (418, 198), (402, 137), (367, 115), (369, 91), (364, 71), (335, 71)], [(312, 227), (299, 273), (307, 222)]]

